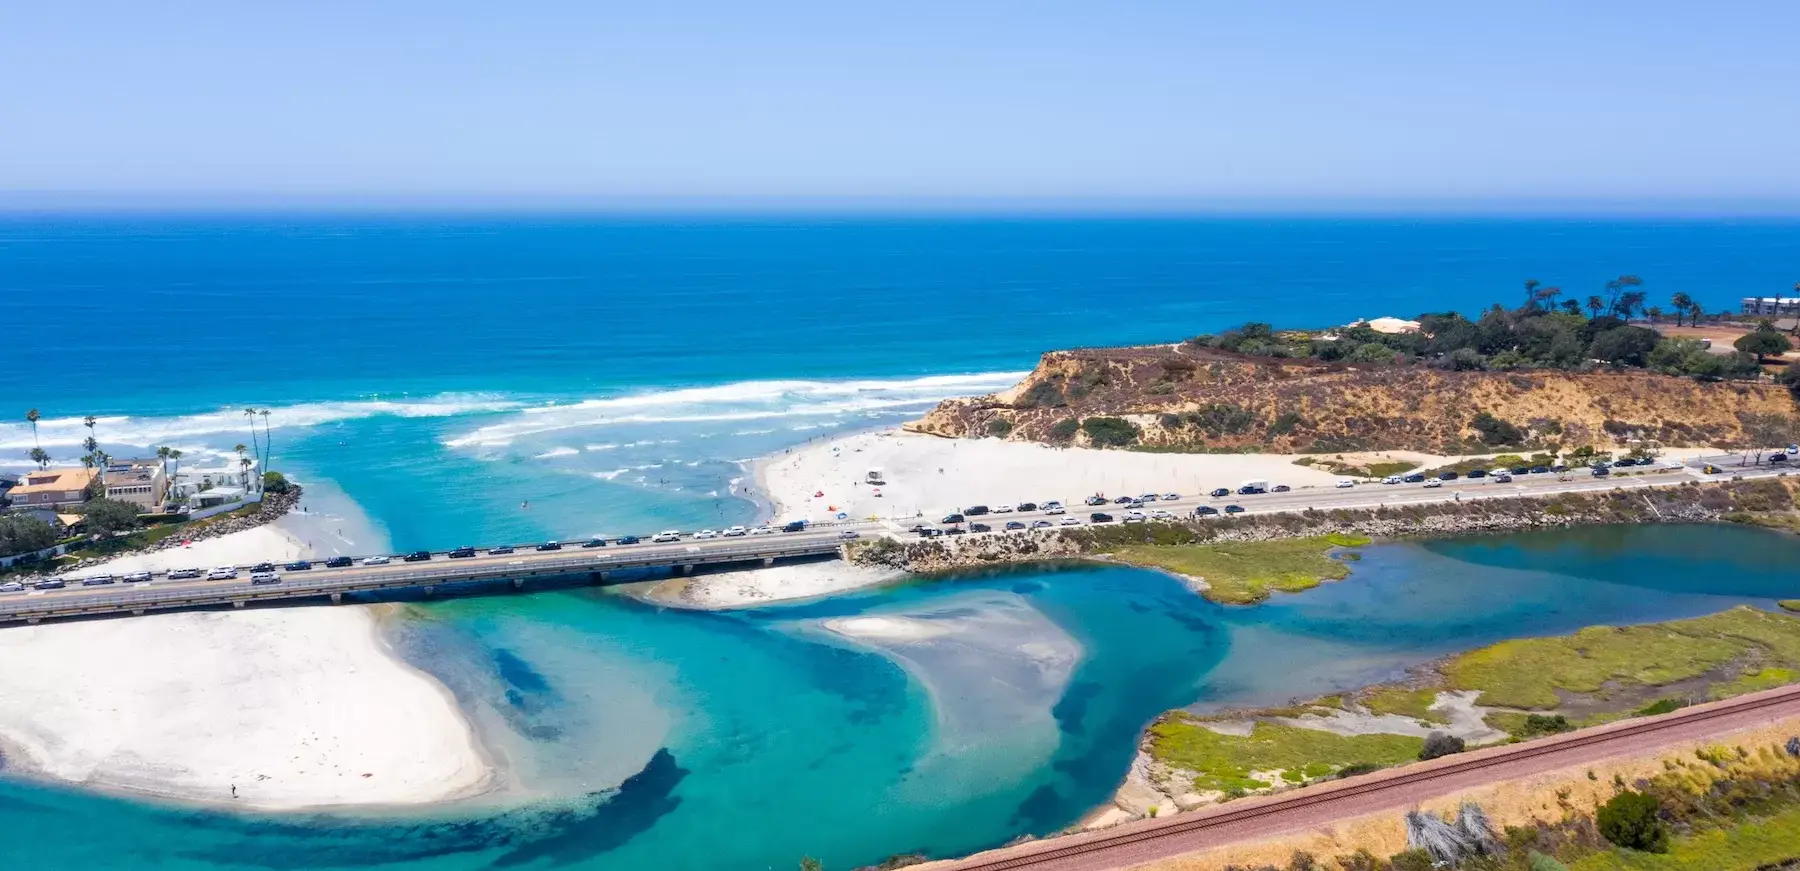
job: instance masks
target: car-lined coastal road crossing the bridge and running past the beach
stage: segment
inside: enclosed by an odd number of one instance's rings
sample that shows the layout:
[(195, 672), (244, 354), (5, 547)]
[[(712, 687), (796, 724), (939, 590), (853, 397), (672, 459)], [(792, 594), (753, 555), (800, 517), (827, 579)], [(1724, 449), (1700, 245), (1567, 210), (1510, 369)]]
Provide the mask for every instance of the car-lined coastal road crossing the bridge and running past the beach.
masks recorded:
[[(1732, 457), (1735, 459), (1735, 457)], [(1681, 470), (1643, 468), (1634, 475), (1591, 477), (1586, 470), (1570, 475), (1521, 475), (1512, 482), (1499, 484), (1492, 479), (1460, 479), (1444, 482), (1438, 488), (1422, 484), (1357, 484), (1354, 488), (1296, 488), (1285, 493), (1256, 495), (1183, 495), (1175, 500), (1157, 500), (1143, 509), (1163, 509), (1177, 516), (1192, 516), (1199, 506), (1211, 506), (1224, 511), (1224, 506), (1242, 506), (1247, 515), (1265, 515), (1305, 509), (1368, 509), (1400, 507), (1431, 502), (1548, 497), (1555, 493), (1589, 493), (1613, 489), (1638, 489), (1652, 486), (1674, 486), (1692, 480), (1753, 479), (1782, 475), (1784, 468), (1764, 466), (1721, 466), (1719, 475), (1706, 475), (1701, 466), (1706, 462), (1724, 462), (1723, 457), (1697, 459)], [(1224, 486), (1224, 482), (1220, 482)], [(1058, 498), (1046, 495), (1046, 498)], [(1003, 513), (972, 516), (995, 531), (988, 534), (1006, 534), (1008, 520), (1035, 522), (1048, 520), (1064, 524), (1071, 518), (1080, 525), (1089, 525), (1089, 515), (1103, 511), (1116, 520), (1123, 518), (1129, 506), (1084, 506), (1080, 497), (1060, 497), (1069, 507), (1067, 515), (1051, 516), (1042, 511)], [(101, 587), (81, 585), (79, 576), (68, 578), (68, 587), (59, 590), (23, 590), (0, 594), (0, 623), (40, 621), (52, 617), (79, 617), (99, 614), (142, 614), (164, 608), (191, 608), (209, 605), (241, 605), (270, 599), (338, 599), (346, 592), (374, 592), (396, 588), (428, 588), (446, 583), (466, 581), (522, 581), (526, 578), (576, 576), (592, 572), (612, 572), (625, 569), (679, 569), (686, 570), (700, 565), (769, 565), (774, 560), (828, 556), (839, 552), (846, 533), (855, 536), (886, 534), (909, 538), (914, 524), (931, 525), (934, 515), (914, 518), (882, 520), (844, 520), (817, 524), (803, 533), (774, 533), (752, 536), (720, 538), (684, 538), (675, 543), (634, 543), (585, 549), (563, 545), (560, 551), (535, 551), (529, 545), (511, 554), (488, 554), (468, 560), (448, 560), (445, 552), (432, 554), (430, 561), (401, 561), (398, 556), (389, 565), (356, 565), (346, 569), (283, 570), (281, 583), (252, 585), (248, 578), (230, 581), (207, 579), (167, 579), (160, 576), (146, 583), (110, 583)], [(198, 567), (207, 569), (207, 567)], [(243, 567), (239, 567), (243, 569)]]

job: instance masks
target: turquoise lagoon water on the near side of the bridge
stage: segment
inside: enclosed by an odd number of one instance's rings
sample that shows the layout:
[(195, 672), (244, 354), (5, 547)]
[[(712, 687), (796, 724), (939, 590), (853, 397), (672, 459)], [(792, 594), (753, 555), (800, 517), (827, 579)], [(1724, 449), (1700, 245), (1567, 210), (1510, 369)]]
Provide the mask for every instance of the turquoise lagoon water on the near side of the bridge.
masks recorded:
[[(740, 614), (608, 590), (432, 603), (394, 639), (535, 799), (259, 817), (0, 783), (20, 867), (853, 867), (1055, 831), (1168, 707), (1328, 693), (1453, 650), (1800, 594), (1800, 542), (1604, 527), (1364, 549), (1339, 583), (1219, 606), (1120, 567), (1021, 567)], [(828, 621), (938, 635), (864, 646)]]

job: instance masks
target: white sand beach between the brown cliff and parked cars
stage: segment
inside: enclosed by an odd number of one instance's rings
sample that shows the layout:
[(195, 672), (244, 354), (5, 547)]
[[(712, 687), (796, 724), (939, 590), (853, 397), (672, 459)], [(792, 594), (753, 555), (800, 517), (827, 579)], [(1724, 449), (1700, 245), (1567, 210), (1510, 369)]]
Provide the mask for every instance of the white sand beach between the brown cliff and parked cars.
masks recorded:
[[(1247, 479), (1294, 488), (1328, 488), (1337, 480), (1330, 471), (1296, 466), (1294, 459), (1298, 455), (1049, 448), (880, 430), (767, 457), (756, 473), (763, 493), (776, 504), (776, 516), (783, 520), (826, 520), (835, 511), (853, 518), (905, 518), (972, 504), (1049, 498), (1080, 504), (1093, 493), (1193, 495), (1235, 488)], [(887, 486), (864, 482), (871, 466), (882, 470)]]

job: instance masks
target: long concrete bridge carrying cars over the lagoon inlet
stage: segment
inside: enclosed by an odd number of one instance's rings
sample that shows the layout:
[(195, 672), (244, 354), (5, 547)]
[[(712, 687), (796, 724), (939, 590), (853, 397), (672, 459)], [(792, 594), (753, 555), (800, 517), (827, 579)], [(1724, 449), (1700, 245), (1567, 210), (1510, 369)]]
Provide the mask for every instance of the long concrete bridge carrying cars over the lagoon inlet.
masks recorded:
[(533, 578), (589, 578), (607, 581), (612, 572), (632, 569), (670, 569), (691, 572), (700, 565), (772, 565), (776, 560), (839, 556), (842, 538), (837, 529), (781, 533), (770, 536), (682, 540), (677, 543), (635, 543), (572, 547), (562, 551), (518, 551), (511, 554), (477, 552), (466, 560), (392, 561), (389, 565), (351, 565), (344, 569), (284, 570), (279, 583), (250, 583), (247, 578), (83, 587), (11, 594), (0, 599), (0, 623), (40, 623), (67, 617), (139, 615), (157, 610), (238, 606), (275, 601), (342, 601), (346, 594), (421, 590), (441, 587), (504, 583), (524, 588)]

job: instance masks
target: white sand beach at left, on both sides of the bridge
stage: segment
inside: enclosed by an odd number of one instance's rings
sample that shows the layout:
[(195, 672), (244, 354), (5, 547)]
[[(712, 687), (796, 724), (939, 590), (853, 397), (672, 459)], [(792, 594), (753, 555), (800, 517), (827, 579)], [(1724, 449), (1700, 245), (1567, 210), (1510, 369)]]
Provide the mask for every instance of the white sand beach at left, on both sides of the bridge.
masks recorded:
[[(263, 525), (104, 570), (302, 551)], [(373, 606), (344, 605), (4, 628), (0, 750), (47, 777), (270, 810), (481, 792), (493, 772), (463, 713), (374, 621)]]

